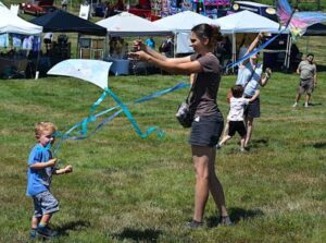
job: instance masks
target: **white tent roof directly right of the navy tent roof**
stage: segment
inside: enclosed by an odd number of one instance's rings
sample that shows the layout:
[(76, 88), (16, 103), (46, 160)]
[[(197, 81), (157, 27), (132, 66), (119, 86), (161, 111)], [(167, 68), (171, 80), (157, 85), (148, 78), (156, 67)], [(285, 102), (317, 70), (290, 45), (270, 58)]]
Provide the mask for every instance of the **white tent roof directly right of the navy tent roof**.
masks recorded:
[(97, 24), (106, 28), (110, 36), (162, 36), (171, 34), (170, 29), (156, 26), (152, 22), (128, 12), (122, 12), (99, 21)]

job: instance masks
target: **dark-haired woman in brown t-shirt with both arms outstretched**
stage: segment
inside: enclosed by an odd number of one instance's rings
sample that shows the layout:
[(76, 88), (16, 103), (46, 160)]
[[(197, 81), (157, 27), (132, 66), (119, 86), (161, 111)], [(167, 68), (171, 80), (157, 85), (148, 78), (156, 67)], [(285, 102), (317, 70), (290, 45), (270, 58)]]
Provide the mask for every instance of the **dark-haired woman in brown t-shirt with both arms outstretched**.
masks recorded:
[(222, 40), (220, 27), (200, 24), (191, 29), (190, 46), (193, 54), (184, 58), (166, 58), (143, 44), (136, 42), (137, 52), (130, 56), (148, 61), (176, 74), (195, 74), (190, 110), (193, 113), (191, 134), (192, 159), (196, 169), (195, 212), (187, 226), (203, 226), (203, 212), (211, 192), (220, 211), (220, 223), (230, 224), (222, 184), (215, 174), (215, 145), (223, 130), (223, 117), (216, 104), (221, 81), (221, 66), (213, 54), (216, 41)]

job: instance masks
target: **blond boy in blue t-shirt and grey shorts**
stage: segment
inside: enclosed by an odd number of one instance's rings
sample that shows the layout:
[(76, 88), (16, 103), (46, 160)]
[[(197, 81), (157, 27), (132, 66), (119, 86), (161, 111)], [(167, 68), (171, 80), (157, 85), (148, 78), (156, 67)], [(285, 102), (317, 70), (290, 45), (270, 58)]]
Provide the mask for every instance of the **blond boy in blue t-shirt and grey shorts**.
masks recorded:
[(57, 129), (51, 122), (39, 122), (35, 125), (35, 137), (38, 143), (34, 146), (28, 158), (27, 196), (34, 201), (30, 238), (37, 234), (49, 239), (55, 235), (49, 229), (52, 215), (59, 211), (59, 203), (50, 192), (52, 174), (64, 174), (73, 171), (72, 166), (64, 169), (55, 168), (57, 158), (50, 151), (54, 144)]

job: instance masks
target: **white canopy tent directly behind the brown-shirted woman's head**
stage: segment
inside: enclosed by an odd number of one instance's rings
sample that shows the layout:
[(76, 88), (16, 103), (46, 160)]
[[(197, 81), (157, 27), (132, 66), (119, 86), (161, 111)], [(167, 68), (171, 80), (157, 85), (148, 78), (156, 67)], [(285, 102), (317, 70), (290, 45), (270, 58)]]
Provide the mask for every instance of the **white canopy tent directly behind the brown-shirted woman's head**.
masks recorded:
[(212, 24), (213, 20), (192, 11), (184, 11), (163, 17), (154, 22), (160, 27), (172, 31), (176, 37), (175, 53), (193, 52), (189, 46), (189, 35), (193, 26), (198, 24)]

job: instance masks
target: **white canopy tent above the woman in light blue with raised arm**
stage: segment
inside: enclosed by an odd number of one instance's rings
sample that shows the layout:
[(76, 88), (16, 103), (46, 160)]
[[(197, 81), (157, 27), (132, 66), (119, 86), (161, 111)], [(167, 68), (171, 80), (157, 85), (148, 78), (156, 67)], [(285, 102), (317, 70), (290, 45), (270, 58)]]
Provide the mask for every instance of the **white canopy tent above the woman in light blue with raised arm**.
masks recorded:
[[(264, 17), (262, 15), (255, 14), (248, 10), (230, 14), (217, 20), (213, 20), (213, 23), (221, 26), (221, 32), (224, 35), (233, 36), (233, 61), (236, 60), (236, 34), (237, 33), (271, 33), (278, 34), (283, 31), (279, 24)], [(283, 31), (284, 34), (288, 34), (289, 32)], [(286, 50), (286, 60), (285, 64), (287, 64), (290, 50), (290, 38), (288, 38), (288, 47)]]

